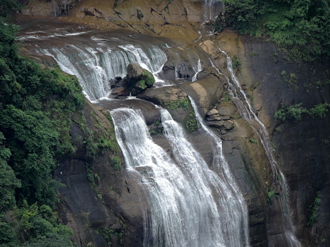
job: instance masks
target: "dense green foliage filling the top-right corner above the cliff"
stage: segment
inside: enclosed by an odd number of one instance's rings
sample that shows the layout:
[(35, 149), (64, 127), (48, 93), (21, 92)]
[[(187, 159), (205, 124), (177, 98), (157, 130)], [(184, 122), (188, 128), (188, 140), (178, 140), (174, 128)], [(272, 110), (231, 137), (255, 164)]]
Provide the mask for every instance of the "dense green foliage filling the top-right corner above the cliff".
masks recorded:
[(216, 30), (271, 39), (303, 61), (330, 57), (330, 0), (224, 0)]

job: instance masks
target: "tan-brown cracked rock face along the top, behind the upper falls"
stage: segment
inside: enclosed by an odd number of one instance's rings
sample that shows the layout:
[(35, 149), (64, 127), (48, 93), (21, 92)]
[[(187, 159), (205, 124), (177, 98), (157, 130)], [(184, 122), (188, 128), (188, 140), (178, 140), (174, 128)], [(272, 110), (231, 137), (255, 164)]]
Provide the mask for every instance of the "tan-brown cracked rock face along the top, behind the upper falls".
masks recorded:
[(37, 0), (29, 1), (23, 14), (61, 16), (93, 28), (125, 28), (170, 39), (194, 40), (198, 39), (200, 23), (210, 14), (216, 17), (214, 10), (214, 6), (205, 5), (202, 0)]

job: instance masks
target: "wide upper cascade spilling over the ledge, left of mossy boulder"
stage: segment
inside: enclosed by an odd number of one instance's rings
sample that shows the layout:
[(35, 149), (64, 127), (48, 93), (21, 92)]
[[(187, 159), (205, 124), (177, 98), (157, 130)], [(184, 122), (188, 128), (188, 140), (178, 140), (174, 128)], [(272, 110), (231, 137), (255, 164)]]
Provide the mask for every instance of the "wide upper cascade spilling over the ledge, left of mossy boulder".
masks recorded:
[(167, 56), (156, 45), (145, 49), (137, 45), (119, 45), (113, 49), (65, 45), (62, 48), (41, 49), (40, 52), (52, 56), (64, 72), (77, 76), (90, 101), (107, 96), (111, 91), (110, 80), (116, 76), (125, 77), (127, 65), (131, 62), (152, 72), (158, 85), (164, 83), (158, 78), (158, 72)]

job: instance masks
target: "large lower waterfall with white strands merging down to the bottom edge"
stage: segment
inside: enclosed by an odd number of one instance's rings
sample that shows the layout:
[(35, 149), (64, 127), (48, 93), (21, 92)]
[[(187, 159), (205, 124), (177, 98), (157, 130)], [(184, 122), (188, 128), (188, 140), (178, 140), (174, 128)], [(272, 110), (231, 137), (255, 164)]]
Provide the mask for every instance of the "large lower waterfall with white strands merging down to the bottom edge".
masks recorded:
[(220, 175), (209, 169), (165, 109), (162, 124), (174, 159), (152, 141), (138, 111), (119, 108), (110, 114), (127, 169), (141, 175), (149, 193), (144, 246), (249, 246), (243, 196), (211, 132), (213, 165)]

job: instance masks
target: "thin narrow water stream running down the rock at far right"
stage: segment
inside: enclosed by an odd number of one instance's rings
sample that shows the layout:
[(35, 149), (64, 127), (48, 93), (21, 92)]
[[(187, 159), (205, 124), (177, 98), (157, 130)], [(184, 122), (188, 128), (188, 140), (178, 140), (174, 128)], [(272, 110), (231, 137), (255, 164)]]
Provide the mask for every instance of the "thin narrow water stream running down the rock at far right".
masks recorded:
[[(220, 48), (219, 48), (220, 50)], [(285, 222), (285, 236), (287, 238), (287, 242), (289, 246), (296, 246), (300, 247), (300, 241), (295, 237), (294, 235), (294, 227), (291, 222), (291, 213), (289, 211), (289, 186), (287, 185), (287, 181), (285, 179), (285, 176), (280, 171), (280, 168), (278, 167), (278, 164), (274, 158), (273, 151), (271, 150), (271, 142), (269, 135), (267, 133), (267, 129), (265, 125), (262, 124), (262, 122), (259, 120), (259, 118), (256, 116), (254, 111), (252, 110), (251, 104), (249, 103), (249, 100), (247, 98), (247, 95), (243, 91), (242, 87), (240, 87), (240, 82), (238, 81), (238, 78), (236, 77), (234, 73), (234, 69), (232, 67), (231, 58), (228, 56), (226, 52), (223, 50), (220, 50), (223, 54), (225, 54), (227, 58), (227, 69), (229, 71), (229, 74), (231, 76), (231, 81), (234, 83), (230, 83), (229, 78), (227, 78), (228, 82), (228, 91), (231, 95), (231, 98), (238, 108), (238, 111), (240, 112), (240, 115), (243, 116), (243, 118), (249, 122), (251, 127), (254, 129), (254, 131), (258, 134), (258, 137), (260, 139), (260, 142), (262, 144), (262, 147), (265, 149), (265, 153), (269, 159), (269, 163), (271, 164), (271, 169), (273, 172), (273, 182), (279, 182), (280, 186), (282, 186), (282, 195), (281, 195), (281, 206), (282, 206), (282, 212), (283, 212), (283, 222)], [(213, 63), (212, 63), (213, 65)], [(218, 71), (219, 72), (219, 71)], [(220, 73), (220, 72), (219, 72)], [(222, 74), (222, 73), (220, 73)], [(240, 95), (240, 97), (239, 97)], [(241, 100), (242, 98), (242, 100)], [(280, 181), (282, 180), (282, 181)]]

